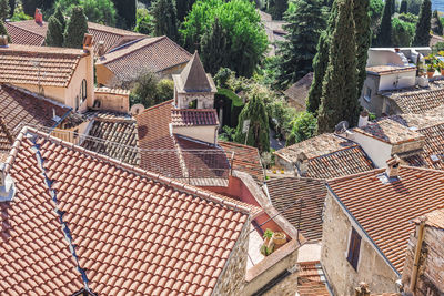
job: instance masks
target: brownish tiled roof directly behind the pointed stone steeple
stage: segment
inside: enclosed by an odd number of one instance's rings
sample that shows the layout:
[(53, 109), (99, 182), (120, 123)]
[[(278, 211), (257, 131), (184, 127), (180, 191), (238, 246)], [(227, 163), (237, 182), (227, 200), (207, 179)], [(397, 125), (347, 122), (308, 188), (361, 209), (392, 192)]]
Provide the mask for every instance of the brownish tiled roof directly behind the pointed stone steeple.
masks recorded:
[(186, 63), (191, 54), (168, 37), (144, 38), (115, 49), (97, 61), (121, 81), (131, 81), (140, 74), (162, 72)]

